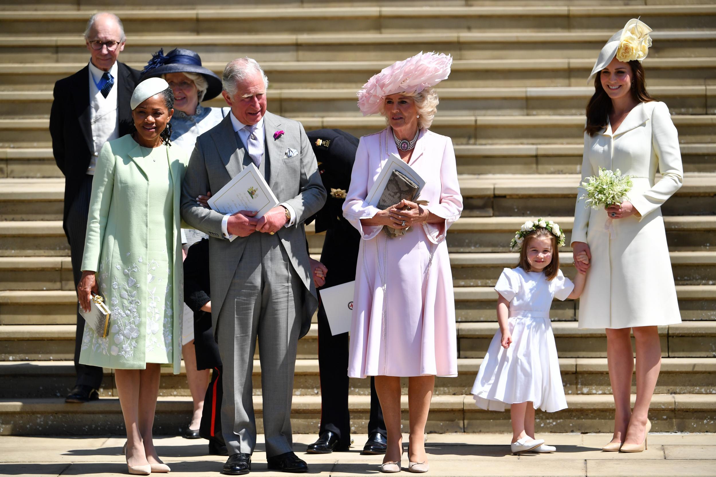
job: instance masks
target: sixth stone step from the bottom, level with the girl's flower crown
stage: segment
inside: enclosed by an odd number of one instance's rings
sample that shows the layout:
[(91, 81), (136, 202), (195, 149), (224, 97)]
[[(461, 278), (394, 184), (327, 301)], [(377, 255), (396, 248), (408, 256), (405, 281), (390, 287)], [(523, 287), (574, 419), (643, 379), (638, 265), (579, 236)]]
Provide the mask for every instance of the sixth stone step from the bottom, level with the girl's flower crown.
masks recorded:
[[(574, 217), (548, 217), (561, 225), (569, 244)], [(451, 252), (509, 252), (509, 243), (525, 222), (524, 217), (460, 217), (448, 231)], [(669, 249), (673, 251), (712, 250), (716, 216), (664, 217)], [(320, 253), (324, 234), (306, 225), (311, 253)], [(568, 250), (568, 249), (564, 249)], [(62, 221), (0, 222), (0, 257), (67, 256), (69, 245)]]

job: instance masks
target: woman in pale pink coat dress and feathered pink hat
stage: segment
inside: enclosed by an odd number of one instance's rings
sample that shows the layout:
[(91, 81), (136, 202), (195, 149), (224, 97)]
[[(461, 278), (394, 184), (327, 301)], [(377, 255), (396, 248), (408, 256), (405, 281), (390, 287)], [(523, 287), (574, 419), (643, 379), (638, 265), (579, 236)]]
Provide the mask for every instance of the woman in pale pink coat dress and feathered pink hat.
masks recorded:
[[(430, 86), (448, 76), (451, 61), (445, 55), (417, 55), (384, 69), (359, 92), (364, 114), (380, 112), (389, 126), (361, 138), (343, 207), (344, 217), (363, 238), (348, 375), (376, 377), (388, 441), (383, 472), (400, 471), (400, 377), (410, 377), (409, 469), (425, 472), (423, 436), (435, 376), (458, 375), (453, 277), (445, 235), (460, 217), (463, 197), (453, 142), (427, 129), (437, 110), (437, 94)], [(425, 180), (419, 200), (427, 205), (403, 201), (379, 210), (365, 202), (391, 153), (399, 154)], [(410, 208), (402, 210), (405, 206)], [(382, 232), (384, 225), (410, 230), (389, 238)]]

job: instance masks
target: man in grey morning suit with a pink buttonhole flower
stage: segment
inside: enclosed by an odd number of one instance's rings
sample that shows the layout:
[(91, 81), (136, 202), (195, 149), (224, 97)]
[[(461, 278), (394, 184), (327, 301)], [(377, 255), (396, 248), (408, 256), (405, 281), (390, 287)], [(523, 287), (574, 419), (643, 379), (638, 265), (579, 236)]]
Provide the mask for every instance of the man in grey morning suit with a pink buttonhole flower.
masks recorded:
[[(212, 321), (224, 364), (221, 423), (230, 455), (223, 471), (251, 470), (256, 445), (251, 373), (258, 335), (269, 468), (305, 472), (306, 463), (292, 452), (290, 420), (296, 346), (318, 305), (304, 220), (324, 205), (326, 190), (301, 123), (266, 112), (268, 79), (258, 63), (236, 59), (226, 65), (222, 81), (231, 114), (198, 137), (181, 210), (189, 225), (210, 236)], [(196, 202), (252, 162), (281, 202), (261, 219), (241, 212), (222, 215)]]

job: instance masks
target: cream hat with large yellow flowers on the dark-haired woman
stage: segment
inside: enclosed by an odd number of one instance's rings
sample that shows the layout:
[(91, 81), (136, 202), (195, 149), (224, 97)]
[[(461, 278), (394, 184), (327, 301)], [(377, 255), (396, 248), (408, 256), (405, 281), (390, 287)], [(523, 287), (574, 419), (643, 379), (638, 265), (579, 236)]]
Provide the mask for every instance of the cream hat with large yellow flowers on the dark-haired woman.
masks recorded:
[(599, 52), (599, 58), (591, 69), (589, 79), (586, 80), (587, 84), (594, 82), (596, 74), (606, 68), (615, 56), (624, 63), (635, 59), (641, 62), (646, 58), (649, 54), (649, 46), (652, 46), (652, 39), (649, 37), (651, 31), (652, 29), (639, 19), (633, 18), (627, 21), (624, 28), (612, 35)]

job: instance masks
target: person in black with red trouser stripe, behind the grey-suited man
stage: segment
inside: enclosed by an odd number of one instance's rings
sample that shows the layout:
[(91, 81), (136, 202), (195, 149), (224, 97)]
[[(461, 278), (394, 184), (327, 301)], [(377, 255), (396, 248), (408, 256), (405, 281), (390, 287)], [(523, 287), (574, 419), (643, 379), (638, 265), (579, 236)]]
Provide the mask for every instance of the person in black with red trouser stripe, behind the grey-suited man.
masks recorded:
[(209, 284), (209, 240), (189, 247), (184, 260), (184, 303), (194, 312), (194, 349), (197, 370), (211, 369), (211, 382), (204, 397), (199, 436), (209, 441), (209, 453), (228, 456), (221, 434), (223, 367), (211, 326), (211, 285)]

